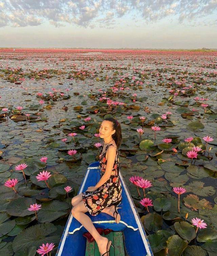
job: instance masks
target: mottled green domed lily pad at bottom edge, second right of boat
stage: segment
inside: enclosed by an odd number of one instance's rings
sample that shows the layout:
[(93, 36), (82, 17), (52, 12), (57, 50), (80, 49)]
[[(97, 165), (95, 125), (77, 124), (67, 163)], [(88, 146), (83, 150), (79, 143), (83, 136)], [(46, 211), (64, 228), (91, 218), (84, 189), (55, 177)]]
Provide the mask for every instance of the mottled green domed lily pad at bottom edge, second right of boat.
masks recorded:
[(166, 241), (169, 252), (167, 256), (181, 256), (188, 246), (188, 241), (181, 239), (178, 235), (173, 235)]

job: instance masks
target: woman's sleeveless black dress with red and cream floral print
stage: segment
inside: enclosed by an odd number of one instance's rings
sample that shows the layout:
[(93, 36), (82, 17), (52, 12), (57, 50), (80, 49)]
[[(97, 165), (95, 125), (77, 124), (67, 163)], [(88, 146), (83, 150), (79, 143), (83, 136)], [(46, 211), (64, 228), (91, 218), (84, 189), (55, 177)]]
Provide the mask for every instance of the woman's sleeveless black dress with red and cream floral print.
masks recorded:
[[(105, 173), (107, 160), (105, 158), (107, 149), (110, 145), (108, 144), (105, 147), (105, 151), (99, 155), (99, 167), (100, 167), (100, 178)], [(114, 145), (116, 147), (116, 145)], [(82, 193), (82, 201), (86, 206), (88, 212), (92, 216), (98, 215), (104, 208), (111, 205), (119, 205), (122, 200), (122, 186), (119, 178), (119, 159), (118, 159), (118, 150), (116, 147), (116, 156), (115, 162), (113, 165), (112, 173), (110, 178), (97, 190), (95, 191), (85, 191)]]

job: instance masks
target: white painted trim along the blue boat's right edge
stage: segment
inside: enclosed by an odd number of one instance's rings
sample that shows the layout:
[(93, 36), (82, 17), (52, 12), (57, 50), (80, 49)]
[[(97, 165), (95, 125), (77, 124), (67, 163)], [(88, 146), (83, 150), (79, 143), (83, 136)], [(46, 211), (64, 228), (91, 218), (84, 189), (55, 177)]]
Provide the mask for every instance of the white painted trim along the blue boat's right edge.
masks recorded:
[(142, 230), (141, 222), (140, 222), (140, 220), (139, 220), (139, 218), (138, 218), (138, 215), (137, 215), (136, 210), (135, 210), (135, 208), (134, 208), (134, 205), (133, 205), (133, 203), (132, 203), (131, 196), (130, 196), (129, 193), (128, 193), (128, 190), (127, 190), (127, 188), (126, 188), (125, 181), (124, 181), (124, 179), (123, 179), (123, 177), (122, 177), (122, 175), (121, 175), (120, 170), (119, 170), (119, 176), (120, 176), (120, 179), (121, 179), (121, 181), (122, 181), (123, 187), (124, 187), (124, 189), (125, 189), (125, 192), (126, 192), (126, 195), (127, 195), (128, 200), (129, 200), (129, 203), (130, 203), (130, 205), (131, 205), (131, 209), (132, 209), (132, 211), (133, 211), (133, 214), (134, 214), (136, 223), (137, 223), (137, 225), (138, 225), (138, 227), (139, 227), (139, 232), (140, 232), (140, 235), (141, 235), (141, 237), (142, 237), (142, 240), (143, 240), (143, 243), (144, 243), (146, 252), (147, 252), (146, 256), (147, 256), (147, 255), (148, 255), (148, 256), (152, 256), (152, 254), (151, 254), (151, 252), (150, 252), (149, 245), (147, 244), (147, 241), (146, 241), (144, 232), (143, 232), (143, 230)]

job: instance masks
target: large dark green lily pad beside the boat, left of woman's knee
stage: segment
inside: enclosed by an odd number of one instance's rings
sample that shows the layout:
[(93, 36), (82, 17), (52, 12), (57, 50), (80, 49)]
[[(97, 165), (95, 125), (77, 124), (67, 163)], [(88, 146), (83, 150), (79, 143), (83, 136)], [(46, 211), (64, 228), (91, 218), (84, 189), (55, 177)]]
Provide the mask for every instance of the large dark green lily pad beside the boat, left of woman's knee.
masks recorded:
[(65, 216), (69, 213), (70, 205), (67, 202), (60, 202), (58, 200), (45, 202), (42, 209), (38, 212), (39, 222), (51, 222), (59, 217)]

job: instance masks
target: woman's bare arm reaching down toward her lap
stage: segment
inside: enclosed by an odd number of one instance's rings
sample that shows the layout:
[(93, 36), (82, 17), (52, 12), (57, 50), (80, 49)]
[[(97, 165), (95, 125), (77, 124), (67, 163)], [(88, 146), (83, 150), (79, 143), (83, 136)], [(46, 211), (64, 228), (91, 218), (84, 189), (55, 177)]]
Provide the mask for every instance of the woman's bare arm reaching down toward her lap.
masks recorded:
[(111, 176), (113, 165), (115, 162), (115, 156), (116, 156), (116, 147), (115, 146), (109, 146), (109, 149), (107, 151), (107, 163), (106, 163), (106, 169), (105, 173), (102, 175), (99, 182), (95, 185), (95, 188), (98, 189), (100, 186), (102, 186)]

